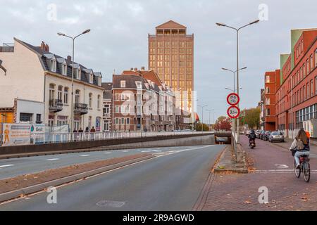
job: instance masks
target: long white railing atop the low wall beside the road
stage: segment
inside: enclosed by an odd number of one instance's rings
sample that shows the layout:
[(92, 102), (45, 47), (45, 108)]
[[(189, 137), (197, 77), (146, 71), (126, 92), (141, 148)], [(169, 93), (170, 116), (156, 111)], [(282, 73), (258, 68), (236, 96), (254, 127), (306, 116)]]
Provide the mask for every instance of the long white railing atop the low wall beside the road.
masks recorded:
[(182, 136), (185, 134), (213, 134), (213, 131), (178, 131), (178, 132), (94, 132), (94, 133), (58, 133), (31, 134), (31, 143), (59, 143), (68, 141), (94, 141), (106, 139), (129, 139), (147, 136)]

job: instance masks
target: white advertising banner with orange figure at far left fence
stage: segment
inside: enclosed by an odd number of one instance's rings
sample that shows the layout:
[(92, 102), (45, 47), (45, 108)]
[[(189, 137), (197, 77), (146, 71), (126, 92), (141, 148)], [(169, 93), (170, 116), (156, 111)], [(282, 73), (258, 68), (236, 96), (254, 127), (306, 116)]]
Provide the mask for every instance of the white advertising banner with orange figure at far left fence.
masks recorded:
[(15, 146), (30, 144), (30, 124), (3, 124), (2, 146)]

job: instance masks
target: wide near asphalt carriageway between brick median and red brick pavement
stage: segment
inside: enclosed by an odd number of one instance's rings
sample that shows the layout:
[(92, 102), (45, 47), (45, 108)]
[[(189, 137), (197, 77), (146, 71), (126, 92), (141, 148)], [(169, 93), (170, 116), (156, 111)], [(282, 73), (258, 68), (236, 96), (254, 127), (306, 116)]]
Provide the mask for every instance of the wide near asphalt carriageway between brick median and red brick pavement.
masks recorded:
[(42, 192), (0, 210), (192, 210), (222, 148), (162, 148), (151, 160), (58, 187), (56, 204)]

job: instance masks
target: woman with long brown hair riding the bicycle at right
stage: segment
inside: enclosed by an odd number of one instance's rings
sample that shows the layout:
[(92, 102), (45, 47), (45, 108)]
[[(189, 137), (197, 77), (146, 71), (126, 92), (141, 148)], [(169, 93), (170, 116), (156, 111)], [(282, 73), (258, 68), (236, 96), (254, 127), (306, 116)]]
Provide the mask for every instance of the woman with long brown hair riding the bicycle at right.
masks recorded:
[(309, 156), (309, 138), (304, 131), (304, 129), (300, 129), (298, 131), (297, 136), (295, 137), (292, 146), (290, 146), (290, 150), (296, 149), (296, 153), (294, 154), (295, 162), (297, 165), (297, 169), (300, 167), (299, 158), (302, 155)]

